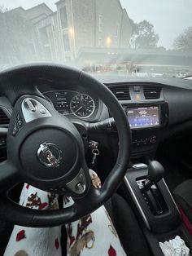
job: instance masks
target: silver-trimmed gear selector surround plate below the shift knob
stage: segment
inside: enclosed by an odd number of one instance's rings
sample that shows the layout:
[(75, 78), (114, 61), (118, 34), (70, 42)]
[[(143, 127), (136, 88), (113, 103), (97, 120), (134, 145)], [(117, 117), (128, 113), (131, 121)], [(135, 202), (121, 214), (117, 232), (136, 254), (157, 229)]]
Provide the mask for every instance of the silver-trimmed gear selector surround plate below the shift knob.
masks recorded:
[[(179, 225), (180, 214), (164, 179), (162, 179), (163, 175), (158, 177), (158, 171), (154, 169), (157, 163), (152, 161), (149, 166), (133, 165), (125, 175), (124, 183), (133, 197), (146, 227), (152, 232), (169, 232)], [(151, 170), (151, 168), (153, 169)], [(150, 171), (151, 173), (156, 172), (154, 177), (151, 177)]]

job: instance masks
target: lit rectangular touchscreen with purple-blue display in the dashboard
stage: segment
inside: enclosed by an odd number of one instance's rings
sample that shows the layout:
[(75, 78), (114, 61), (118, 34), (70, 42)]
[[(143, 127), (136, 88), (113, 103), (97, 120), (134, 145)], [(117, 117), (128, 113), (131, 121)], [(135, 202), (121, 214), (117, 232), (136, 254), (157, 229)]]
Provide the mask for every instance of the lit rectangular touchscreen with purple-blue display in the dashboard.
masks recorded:
[(132, 129), (159, 126), (159, 107), (127, 108)]

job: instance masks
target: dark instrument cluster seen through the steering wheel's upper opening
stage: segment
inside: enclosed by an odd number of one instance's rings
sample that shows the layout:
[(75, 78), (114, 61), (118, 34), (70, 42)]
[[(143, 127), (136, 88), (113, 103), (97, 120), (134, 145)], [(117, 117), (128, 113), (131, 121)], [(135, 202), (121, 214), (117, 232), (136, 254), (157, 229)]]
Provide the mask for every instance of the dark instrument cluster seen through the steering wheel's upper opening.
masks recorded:
[(73, 90), (50, 90), (43, 95), (63, 115), (88, 118), (94, 114), (95, 101), (85, 93)]

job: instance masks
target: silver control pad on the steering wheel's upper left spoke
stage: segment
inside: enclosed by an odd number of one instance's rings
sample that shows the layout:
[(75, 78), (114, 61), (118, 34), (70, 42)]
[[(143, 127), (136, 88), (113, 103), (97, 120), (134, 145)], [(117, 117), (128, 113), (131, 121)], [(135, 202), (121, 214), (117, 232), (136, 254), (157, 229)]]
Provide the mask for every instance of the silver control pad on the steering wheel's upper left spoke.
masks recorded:
[(21, 104), (22, 112), (26, 122), (36, 120), (41, 117), (51, 117), (52, 115), (37, 99), (27, 98)]

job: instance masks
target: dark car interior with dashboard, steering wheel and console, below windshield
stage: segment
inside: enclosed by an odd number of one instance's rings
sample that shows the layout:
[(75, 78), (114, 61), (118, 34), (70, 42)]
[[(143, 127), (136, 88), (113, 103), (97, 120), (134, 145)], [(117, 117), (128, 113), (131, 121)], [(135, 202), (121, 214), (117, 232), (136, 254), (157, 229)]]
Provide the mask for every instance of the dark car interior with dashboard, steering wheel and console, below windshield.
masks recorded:
[[(52, 227), (103, 204), (127, 254), (163, 255), (159, 241), (177, 235), (192, 249), (191, 80), (105, 81), (63, 65), (31, 64), (2, 71), (0, 85), (2, 254), (13, 223)], [(56, 173), (37, 157), (44, 142), (63, 154)], [(99, 192), (89, 186), (88, 168), (102, 179)], [(26, 181), (72, 196), (76, 207), (17, 205)]]

